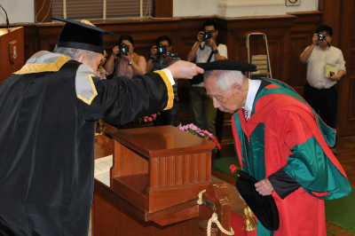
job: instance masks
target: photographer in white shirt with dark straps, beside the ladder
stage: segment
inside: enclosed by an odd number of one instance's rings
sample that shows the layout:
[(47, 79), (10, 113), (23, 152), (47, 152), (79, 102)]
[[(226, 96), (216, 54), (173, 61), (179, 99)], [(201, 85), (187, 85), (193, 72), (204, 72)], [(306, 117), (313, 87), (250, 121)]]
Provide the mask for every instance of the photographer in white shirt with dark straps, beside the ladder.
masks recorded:
[[(197, 35), (197, 42), (187, 56), (188, 61), (204, 63), (219, 59), (227, 59), (227, 47), (225, 44), (217, 43), (217, 24), (207, 20), (203, 24), (203, 30)], [(208, 130), (216, 135), (216, 114), (217, 108), (213, 106), (212, 98), (206, 93), (205, 84), (193, 84), (189, 92), (193, 112), (193, 123), (202, 130)]]

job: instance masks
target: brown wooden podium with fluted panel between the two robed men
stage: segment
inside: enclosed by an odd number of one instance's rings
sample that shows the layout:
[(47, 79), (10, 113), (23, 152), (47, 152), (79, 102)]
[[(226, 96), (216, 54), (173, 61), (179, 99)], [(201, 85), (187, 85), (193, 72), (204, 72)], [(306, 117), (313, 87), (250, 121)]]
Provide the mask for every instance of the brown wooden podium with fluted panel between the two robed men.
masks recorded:
[[(211, 183), (214, 144), (173, 126), (115, 130), (110, 135), (114, 138), (111, 184), (95, 179), (94, 236), (207, 235), (213, 212), (230, 230), (226, 184)], [(95, 152), (106, 139), (96, 139)], [(198, 205), (202, 190), (207, 192)], [(225, 235), (215, 224), (212, 232)]]

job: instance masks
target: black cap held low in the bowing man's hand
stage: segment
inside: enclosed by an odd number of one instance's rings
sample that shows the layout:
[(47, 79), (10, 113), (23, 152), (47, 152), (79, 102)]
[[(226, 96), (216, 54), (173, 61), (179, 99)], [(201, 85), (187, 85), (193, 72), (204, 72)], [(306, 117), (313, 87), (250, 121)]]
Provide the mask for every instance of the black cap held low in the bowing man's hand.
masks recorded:
[(243, 200), (265, 229), (277, 231), (280, 226), (279, 211), (272, 195), (263, 196), (257, 193), (255, 184), (258, 181), (247, 172), (240, 170), (238, 175), (235, 186)]

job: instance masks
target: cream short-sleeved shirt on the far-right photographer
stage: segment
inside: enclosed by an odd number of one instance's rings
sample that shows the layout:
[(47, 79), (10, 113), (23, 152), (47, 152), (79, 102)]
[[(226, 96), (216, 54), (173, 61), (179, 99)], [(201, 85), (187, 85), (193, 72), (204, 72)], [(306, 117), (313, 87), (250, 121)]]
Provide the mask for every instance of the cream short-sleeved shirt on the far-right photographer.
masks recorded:
[[(307, 47), (304, 51), (306, 51)], [(301, 61), (302, 55), (301, 54)], [(313, 88), (329, 89), (336, 81), (331, 81), (326, 77), (326, 65), (337, 67), (339, 70), (345, 71), (345, 60), (343, 59), (343, 52), (334, 46), (327, 47), (326, 51), (321, 50), (319, 45), (315, 46), (311, 57), (307, 62), (307, 81)]]

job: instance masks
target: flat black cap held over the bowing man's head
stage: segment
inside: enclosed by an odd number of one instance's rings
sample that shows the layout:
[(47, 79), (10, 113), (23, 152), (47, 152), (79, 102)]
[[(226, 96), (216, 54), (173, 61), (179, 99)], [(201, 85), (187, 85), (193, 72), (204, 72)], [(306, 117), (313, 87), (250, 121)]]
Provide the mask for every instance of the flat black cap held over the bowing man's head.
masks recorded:
[(201, 67), (204, 70), (239, 70), (242, 72), (256, 71), (255, 65), (233, 59), (218, 59), (207, 63), (197, 63), (196, 66)]

